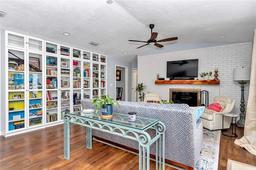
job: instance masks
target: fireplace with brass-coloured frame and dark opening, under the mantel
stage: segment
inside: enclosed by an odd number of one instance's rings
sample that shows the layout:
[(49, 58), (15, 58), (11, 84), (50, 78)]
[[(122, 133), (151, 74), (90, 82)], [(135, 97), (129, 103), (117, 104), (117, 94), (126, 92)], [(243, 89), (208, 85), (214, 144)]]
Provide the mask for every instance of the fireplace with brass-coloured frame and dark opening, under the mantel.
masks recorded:
[(170, 89), (170, 100), (174, 103), (185, 103), (189, 106), (201, 105), (201, 89)]

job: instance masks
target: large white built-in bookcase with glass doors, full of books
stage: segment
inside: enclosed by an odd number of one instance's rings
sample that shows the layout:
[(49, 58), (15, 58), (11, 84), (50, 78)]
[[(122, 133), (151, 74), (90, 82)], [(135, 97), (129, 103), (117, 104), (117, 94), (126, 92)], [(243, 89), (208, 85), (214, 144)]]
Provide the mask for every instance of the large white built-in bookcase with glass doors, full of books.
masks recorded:
[(2, 32), (3, 136), (63, 123), (80, 100), (107, 94), (107, 56)]

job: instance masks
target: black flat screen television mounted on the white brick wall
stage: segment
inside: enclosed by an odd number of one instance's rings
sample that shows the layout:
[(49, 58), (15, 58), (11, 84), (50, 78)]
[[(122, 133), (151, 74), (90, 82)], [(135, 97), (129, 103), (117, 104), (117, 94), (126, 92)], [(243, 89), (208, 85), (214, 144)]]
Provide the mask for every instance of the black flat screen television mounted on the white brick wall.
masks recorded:
[(167, 61), (167, 78), (198, 77), (198, 59)]

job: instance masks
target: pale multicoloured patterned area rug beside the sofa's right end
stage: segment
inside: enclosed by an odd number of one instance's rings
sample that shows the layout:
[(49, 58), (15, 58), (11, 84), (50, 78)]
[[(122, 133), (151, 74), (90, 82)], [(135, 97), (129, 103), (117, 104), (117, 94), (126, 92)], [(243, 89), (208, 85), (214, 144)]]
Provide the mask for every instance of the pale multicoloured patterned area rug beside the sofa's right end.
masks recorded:
[(203, 128), (203, 148), (196, 170), (218, 170), (220, 132)]

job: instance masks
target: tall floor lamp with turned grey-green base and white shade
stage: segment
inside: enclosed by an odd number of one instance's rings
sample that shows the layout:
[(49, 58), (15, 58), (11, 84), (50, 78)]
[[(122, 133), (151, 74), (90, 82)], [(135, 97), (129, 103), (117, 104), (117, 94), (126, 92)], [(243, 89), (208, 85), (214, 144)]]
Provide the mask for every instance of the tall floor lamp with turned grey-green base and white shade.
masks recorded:
[(241, 81), (238, 82), (241, 84), (241, 104), (240, 104), (240, 120), (237, 121), (237, 126), (238, 127), (244, 127), (244, 122), (245, 122), (245, 109), (244, 109), (244, 84), (247, 82), (244, 81), (249, 81), (250, 80), (250, 72), (251, 68), (238, 68), (233, 70), (233, 81)]

